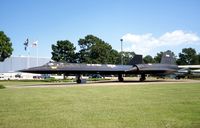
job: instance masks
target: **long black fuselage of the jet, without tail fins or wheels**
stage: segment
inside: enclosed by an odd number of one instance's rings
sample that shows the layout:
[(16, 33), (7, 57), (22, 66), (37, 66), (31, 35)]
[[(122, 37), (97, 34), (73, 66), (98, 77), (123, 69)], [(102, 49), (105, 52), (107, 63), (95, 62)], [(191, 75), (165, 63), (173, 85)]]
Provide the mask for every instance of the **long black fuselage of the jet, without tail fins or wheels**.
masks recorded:
[(176, 65), (169, 64), (76, 64), (49, 62), (46, 65), (20, 70), (38, 74), (168, 74), (177, 70)]

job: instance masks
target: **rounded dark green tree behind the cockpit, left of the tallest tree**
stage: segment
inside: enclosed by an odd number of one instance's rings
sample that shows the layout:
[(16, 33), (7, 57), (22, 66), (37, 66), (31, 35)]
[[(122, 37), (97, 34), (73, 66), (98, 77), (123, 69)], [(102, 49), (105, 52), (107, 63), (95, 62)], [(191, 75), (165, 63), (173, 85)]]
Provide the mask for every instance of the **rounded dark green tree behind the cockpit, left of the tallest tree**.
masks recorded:
[(76, 62), (76, 54), (75, 54), (76, 47), (68, 41), (68, 40), (61, 40), (57, 41), (56, 45), (52, 45), (52, 60), (55, 61), (65, 61), (68, 63)]

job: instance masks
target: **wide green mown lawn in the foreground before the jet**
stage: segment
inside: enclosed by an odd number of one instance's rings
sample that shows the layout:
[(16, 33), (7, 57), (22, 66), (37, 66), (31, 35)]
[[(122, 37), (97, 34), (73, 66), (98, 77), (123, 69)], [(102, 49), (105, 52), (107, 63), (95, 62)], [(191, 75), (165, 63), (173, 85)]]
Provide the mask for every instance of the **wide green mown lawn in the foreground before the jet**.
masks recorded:
[(200, 128), (200, 84), (0, 89), (0, 128)]

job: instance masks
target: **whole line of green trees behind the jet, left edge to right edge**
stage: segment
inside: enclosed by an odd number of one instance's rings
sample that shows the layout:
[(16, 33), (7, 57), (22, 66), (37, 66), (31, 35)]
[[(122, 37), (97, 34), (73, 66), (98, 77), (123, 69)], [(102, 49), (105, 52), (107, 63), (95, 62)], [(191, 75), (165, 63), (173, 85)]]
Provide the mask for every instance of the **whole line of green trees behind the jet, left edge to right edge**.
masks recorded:
[[(56, 44), (52, 45), (51, 59), (67, 63), (121, 64), (121, 56), (123, 56), (123, 64), (129, 64), (135, 56), (134, 52), (118, 52), (109, 43), (94, 35), (80, 38), (78, 45), (80, 50), (76, 52), (76, 47), (69, 40), (57, 41)], [(0, 31), (0, 61), (10, 57), (12, 52), (10, 38), (3, 31)], [(162, 55), (163, 52), (157, 53), (154, 57), (147, 55), (143, 58), (143, 62), (159, 63)], [(175, 57), (178, 65), (200, 64), (200, 53), (197, 53), (193, 48), (183, 48), (182, 52)]]

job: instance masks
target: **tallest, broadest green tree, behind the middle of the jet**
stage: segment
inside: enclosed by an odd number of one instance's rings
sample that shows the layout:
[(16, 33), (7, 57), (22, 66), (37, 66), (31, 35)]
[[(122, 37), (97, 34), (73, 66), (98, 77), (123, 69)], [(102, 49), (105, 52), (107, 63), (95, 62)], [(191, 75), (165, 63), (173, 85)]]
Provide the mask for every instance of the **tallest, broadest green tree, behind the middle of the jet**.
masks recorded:
[(84, 39), (79, 39), (78, 44), (80, 46), (78, 53), (78, 61), (80, 63), (116, 63), (118, 52), (113, 50), (111, 45), (100, 38), (87, 35)]

